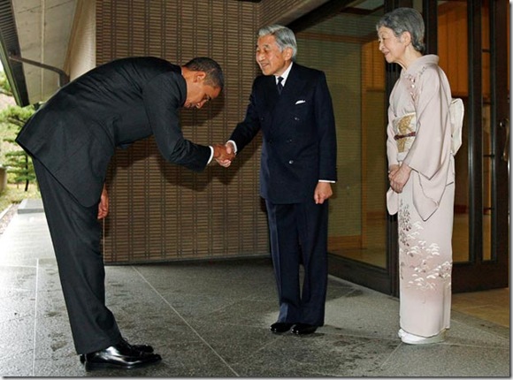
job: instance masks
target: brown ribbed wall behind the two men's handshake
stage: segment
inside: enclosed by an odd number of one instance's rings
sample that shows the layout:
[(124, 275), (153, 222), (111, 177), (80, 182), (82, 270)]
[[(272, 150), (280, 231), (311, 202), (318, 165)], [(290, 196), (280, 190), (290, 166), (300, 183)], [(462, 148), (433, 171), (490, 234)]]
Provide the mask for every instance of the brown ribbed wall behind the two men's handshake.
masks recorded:
[[(224, 142), (244, 117), (257, 74), (258, 10), (257, 4), (215, 0), (97, 2), (97, 64), (145, 55), (179, 65), (192, 57), (216, 59), (225, 90), (203, 110), (184, 110), (181, 121), (192, 141)], [(267, 255), (260, 145), (258, 137), (229, 169), (212, 164), (202, 173), (166, 163), (153, 138), (119, 150), (107, 179), (111, 214), (104, 225), (105, 262)]]

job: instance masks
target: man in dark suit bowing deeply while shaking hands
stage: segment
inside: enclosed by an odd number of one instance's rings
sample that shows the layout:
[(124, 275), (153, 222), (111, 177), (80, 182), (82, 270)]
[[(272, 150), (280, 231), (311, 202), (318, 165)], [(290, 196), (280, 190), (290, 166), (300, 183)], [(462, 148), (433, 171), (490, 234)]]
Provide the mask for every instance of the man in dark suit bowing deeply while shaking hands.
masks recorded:
[(161, 360), (151, 346), (128, 344), (105, 306), (97, 219), (108, 213), (111, 156), (153, 134), (168, 162), (203, 171), (226, 147), (184, 139), (179, 109), (202, 108), (223, 85), (221, 68), (206, 57), (183, 66), (157, 57), (115, 60), (59, 89), (17, 137), (33, 157), (73, 342), (87, 370)]

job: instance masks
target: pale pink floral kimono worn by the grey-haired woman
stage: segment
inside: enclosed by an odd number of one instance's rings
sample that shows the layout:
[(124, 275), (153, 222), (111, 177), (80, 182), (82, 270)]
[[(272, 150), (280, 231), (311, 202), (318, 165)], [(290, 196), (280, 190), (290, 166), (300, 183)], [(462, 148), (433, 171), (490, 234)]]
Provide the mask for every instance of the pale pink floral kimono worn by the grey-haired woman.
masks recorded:
[(412, 168), (401, 194), (387, 192), (388, 212), (398, 214), (400, 324), (421, 337), (450, 327), (455, 163), (451, 91), (438, 61), (419, 57), (402, 70), (388, 109), (388, 164)]

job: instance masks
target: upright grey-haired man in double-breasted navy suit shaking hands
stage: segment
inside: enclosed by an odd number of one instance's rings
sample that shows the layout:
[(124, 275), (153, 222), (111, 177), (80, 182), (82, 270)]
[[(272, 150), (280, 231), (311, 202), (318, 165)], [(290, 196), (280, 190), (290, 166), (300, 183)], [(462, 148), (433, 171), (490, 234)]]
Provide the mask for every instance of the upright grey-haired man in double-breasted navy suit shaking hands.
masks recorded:
[(253, 82), (246, 118), (226, 146), (240, 152), (262, 130), (260, 191), (279, 296), (279, 317), (271, 331), (292, 329), (302, 335), (316, 331), (325, 319), (327, 200), (336, 181), (337, 148), (325, 74), (296, 64), (296, 50), (287, 27), (259, 30), (256, 58), (264, 75)]

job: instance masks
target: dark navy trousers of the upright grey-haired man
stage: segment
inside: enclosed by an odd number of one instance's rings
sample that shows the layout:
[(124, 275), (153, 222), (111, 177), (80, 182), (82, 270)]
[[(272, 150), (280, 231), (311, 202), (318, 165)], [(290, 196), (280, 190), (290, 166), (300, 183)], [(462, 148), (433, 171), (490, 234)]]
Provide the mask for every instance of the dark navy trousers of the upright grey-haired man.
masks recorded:
[[(266, 201), (272, 264), (279, 297), (278, 322), (322, 326), (327, 287), (328, 202)], [(300, 265), (304, 268), (300, 292)]]

